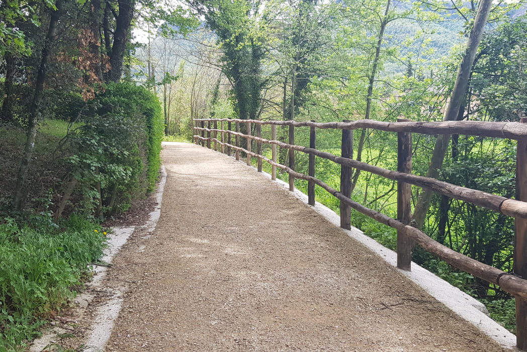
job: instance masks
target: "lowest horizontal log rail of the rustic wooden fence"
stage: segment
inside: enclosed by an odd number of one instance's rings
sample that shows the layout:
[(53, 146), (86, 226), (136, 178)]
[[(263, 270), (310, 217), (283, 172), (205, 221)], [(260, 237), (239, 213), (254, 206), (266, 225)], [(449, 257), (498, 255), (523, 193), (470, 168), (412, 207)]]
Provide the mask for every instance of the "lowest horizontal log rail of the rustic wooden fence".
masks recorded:
[[(197, 136), (197, 138), (200, 140), (208, 140), (208, 138), (203, 138), (201, 136)], [(212, 139), (212, 141), (223, 144), (223, 145), (227, 145), (227, 143), (221, 143), (219, 140)], [(475, 259), (466, 257), (462, 255), (461, 253), (458, 253), (450, 248), (447, 248), (443, 246), (441, 243), (428, 237), (423, 231), (418, 230), (414, 227), (405, 225), (402, 222), (399, 222), (393, 218), (390, 218), (383, 213), (366, 208), (362, 204), (357, 203), (345, 197), (339, 191), (330, 187), (328, 184), (326, 184), (325, 182), (317, 178), (291, 170), (286, 165), (282, 165), (277, 162), (274, 162), (270, 160), (269, 158), (265, 157), (264, 155), (258, 155), (257, 153), (250, 152), (246, 149), (243, 149), (235, 145), (227, 145), (227, 146), (230, 146), (230, 148), (232, 149), (239, 150), (247, 154), (250, 154), (252, 157), (261, 158), (262, 160), (265, 160), (269, 164), (274, 165), (275, 167), (285, 170), (287, 173), (292, 174), (296, 179), (302, 179), (302, 180), (314, 182), (315, 184), (319, 185), (321, 188), (328, 191), (330, 194), (334, 195), (334, 197), (348, 204), (350, 207), (357, 210), (358, 212), (380, 223), (383, 223), (386, 226), (392, 227), (399, 231), (403, 231), (408, 237), (410, 237), (412, 240), (418, 243), (419, 246), (423, 247), (423, 249), (441, 258), (448, 264), (458, 269), (461, 269), (463, 271), (466, 271), (470, 273), (471, 275), (479, 277), (485, 281), (494, 283), (494, 285), (500, 286), (504, 291), (509, 292), (512, 295), (527, 298), (527, 280), (514, 276), (511, 273), (505, 272), (503, 270), (496, 269), (482, 262), (479, 262)]]

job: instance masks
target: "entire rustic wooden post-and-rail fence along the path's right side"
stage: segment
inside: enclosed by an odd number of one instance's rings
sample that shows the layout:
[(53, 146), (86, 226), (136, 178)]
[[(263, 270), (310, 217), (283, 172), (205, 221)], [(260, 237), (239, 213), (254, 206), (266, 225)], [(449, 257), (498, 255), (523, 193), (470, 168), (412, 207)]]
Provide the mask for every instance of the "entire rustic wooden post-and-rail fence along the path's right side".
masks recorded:
[[(257, 168), (262, 171), (262, 160), (271, 164), (271, 178), (276, 179), (277, 168), (289, 174), (289, 190), (294, 190), (295, 179), (308, 181), (308, 203), (315, 205), (315, 184), (325, 189), (340, 200), (340, 226), (350, 229), (350, 211), (355, 209), (366, 216), (397, 229), (397, 267), (411, 270), (411, 253), (417, 243), (423, 249), (446, 261), (451, 266), (463, 270), (487, 282), (498, 285), (516, 299), (516, 342), (521, 350), (527, 350), (527, 119), (521, 122), (412, 122), (398, 120), (396, 123), (372, 120), (317, 123), (314, 121), (258, 121), (239, 119), (195, 119), (194, 142), (214, 150), (231, 155), (235, 151), (236, 160), (240, 151), (247, 155), (247, 165), (251, 157), (258, 158)], [(220, 128), (218, 129), (218, 123)], [(232, 130), (232, 123), (235, 130)], [(240, 133), (240, 124), (246, 124), (246, 134)], [(255, 125), (256, 135), (251, 134), (251, 125)], [(261, 126), (271, 125), (271, 140), (261, 137)], [(288, 143), (277, 140), (277, 126), (289, 127)], [(295, 144), (295, 128), (309, 127), (309, 146)], [(226, 128), (226, 129), (225, 129)], [(353, 130), (375, 129), (396, 132), (398, 136), (397, 171), (386, 170), (374, 165), (353, 160)], [(316, 149), (317, 129), (342, 130), (341, 156)], [(413, 175), (412, 172), (412, 133), (422, 134), (464, 134), (506, 138), (518, 141), (516, 154), (516, 199), (501, 197), (483, 191), (460, 187), (433, 178)], [(218, 138), (219, 134), (219, 138)], [(232, 136), (235, 143), (232, 144)], [(246, 139), (247, 147), (240, 145), (240, 139)], [(257, 142), (257, 152), (251, 151), (251, 141)], [(271, 159), (262, 155), (262, 143), (271, 144)], [(289, 150), (289, 164), (277, 163), (277, 146)], [(295, 151), (309, 154), (308, 174), (295, 171)], [(331, 160), (341, 165), (340, 190), (315, 178), (315, 157)], [(397, 181), (397, 219), (364, 207), (352, 199), (352, 169), (363, 170)], [(432, 189), (447, 197), (470, 202), (476, 206), (502, 213), (515, 218), (514, 272), (505, 272), (485, 265), (461, 253), (455, 252), (441, 243), (428, 237), (424, 232), (409, 226), (411, 217), (411, 185)], [(524, 279), (525, 278), (525, 279)]]

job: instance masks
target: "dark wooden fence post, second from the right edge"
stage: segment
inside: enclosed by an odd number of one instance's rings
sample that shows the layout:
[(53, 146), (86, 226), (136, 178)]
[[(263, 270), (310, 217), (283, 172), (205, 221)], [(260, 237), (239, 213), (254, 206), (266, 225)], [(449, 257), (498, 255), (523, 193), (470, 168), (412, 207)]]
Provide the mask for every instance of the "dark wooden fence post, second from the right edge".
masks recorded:
[[(411, 121), (397, 119), (397, 122)], [(397, 133), (397, 171), (412, 173), (412, 133)], [(397, 182), (397, 219), (404, 224), (410, 223), (412, 216), (411, 184)], [(397, 268), (411, 270), (412, 240), (403, 231), (397, 230)]]

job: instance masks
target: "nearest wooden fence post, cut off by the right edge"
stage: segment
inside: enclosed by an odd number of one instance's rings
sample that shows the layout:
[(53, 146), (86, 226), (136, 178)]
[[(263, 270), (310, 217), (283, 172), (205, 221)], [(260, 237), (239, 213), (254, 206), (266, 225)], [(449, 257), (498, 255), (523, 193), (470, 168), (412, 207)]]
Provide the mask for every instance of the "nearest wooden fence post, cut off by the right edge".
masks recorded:
[[(527, 118), (521, 119), (527, 123)], [(516, 199), (527, 201), (527, 141), (518, 140), (516, 148)], [(527, 220), (515, 218), (516, 236), (514, 237), (514, 273), (527, 279)], [(516, 299), (516, 346), (527, 349), (527, 299)]]

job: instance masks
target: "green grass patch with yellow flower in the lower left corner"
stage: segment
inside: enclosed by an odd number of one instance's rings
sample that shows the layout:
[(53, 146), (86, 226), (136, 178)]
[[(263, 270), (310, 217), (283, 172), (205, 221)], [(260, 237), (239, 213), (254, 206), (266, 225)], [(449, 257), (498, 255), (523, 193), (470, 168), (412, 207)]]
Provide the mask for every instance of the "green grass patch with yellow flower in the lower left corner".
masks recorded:
[(72, 215), (51, 221), (0, 220), (0, 351), (23, 350), (38, 327), (76, 295), (106, 238), (96, 224)]

